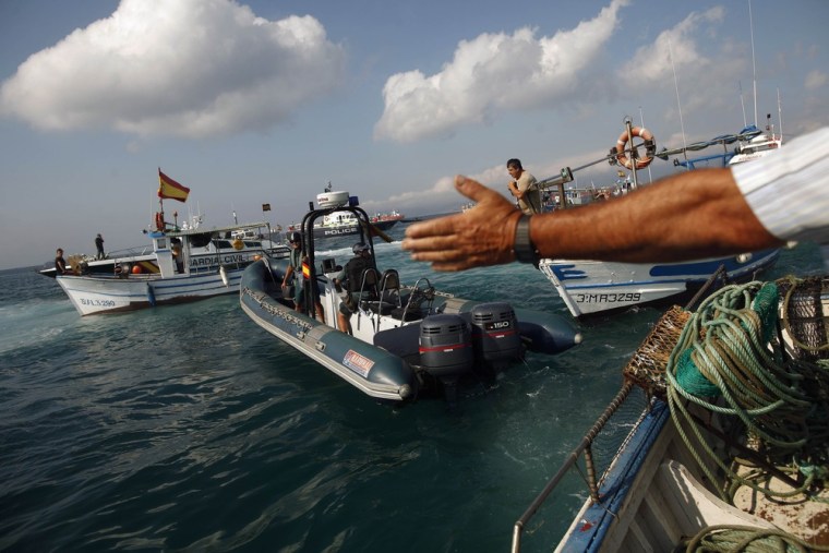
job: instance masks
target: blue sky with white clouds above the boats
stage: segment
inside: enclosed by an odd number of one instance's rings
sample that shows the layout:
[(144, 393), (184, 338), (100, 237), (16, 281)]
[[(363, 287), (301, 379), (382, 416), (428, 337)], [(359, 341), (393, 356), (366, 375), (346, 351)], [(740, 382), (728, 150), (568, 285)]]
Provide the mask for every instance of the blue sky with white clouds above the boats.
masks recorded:
[(625, 117), (658, 149), (767, 113), (785, 142), (829, 123), (827, 21), (824, 0), (0, 0), (0, 269), (146, 244), (159, 169), (191, 190), (168, 220), (285, 226), (328, 182), (409, 217), (459, 209), (458, 173), (506, 195), (507, 159), (581, 167)]

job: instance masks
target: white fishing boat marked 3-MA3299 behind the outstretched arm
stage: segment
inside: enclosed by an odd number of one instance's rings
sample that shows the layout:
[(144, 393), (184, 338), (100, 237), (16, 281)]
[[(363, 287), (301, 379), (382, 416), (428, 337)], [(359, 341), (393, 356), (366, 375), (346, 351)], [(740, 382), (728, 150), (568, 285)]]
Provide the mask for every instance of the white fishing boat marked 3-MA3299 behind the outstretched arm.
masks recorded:
[[(688, 149), (700, 149), (713, 145), (725, 145), (740, 141), (736, 155), (728, 151), (706, 160), (721, 159), (723, 165), (747, 161), (762, 155), (776, 152), (781, 144), (779, 135), (773, 131), (764, 134), (745, 129), (738, 135), (723, 135), (684, 148), (656, 154), (656, 143), (649, 131), (633, 127), (627, 121), (627, 130), (622, 134), (618, 146), (610, 157), (633, 170), (634, 179), (630, 189), (636, 187), (636, 169), (647, 167), (654, 157), (668, 159), (669, 155), (684, 153)], [(758, 134), (759, 133), (759, 134)], [(646, 147), (646, 154), (639, 156), (633, 137), (642, 135), (647, 139), (639, 146)], [(630, 143), (629, 145), (627, 143)], [(693, 167), (694, 160), (676, 161), (675, 165)], [(542, 185), (557, 185), (563, 189), (564, 182), (572, 179), (572, 173), (562, 171), (561, 177), (542, 181)], [(564, 208), (566, 206), (562, 206)], [(567, 309), (575, 317), (589, 317), (614, 311), (629, 309), (677, 297), (690, 296), (698, 290), (711, 275), (722, 269), (728, 280), (744, 281), (755, 278), (760, 272), (771, 267), (778, 260), (777, 249), (758, 252), (745, 252), (740, 255), (710, 257), (693, 262), (678, 263), (623, 263), (598, 262), (590, 260), (542, 259), (539, 269), (550, 280), (556, 293), (562, 298)]]

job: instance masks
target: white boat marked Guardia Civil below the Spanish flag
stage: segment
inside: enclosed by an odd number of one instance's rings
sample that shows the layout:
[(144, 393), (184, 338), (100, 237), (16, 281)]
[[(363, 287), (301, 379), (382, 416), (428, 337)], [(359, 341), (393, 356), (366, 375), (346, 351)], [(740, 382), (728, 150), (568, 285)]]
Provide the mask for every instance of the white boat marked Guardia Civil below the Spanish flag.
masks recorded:
[(235, 293), (244, 267), (289, 253), (288, 247), (262, 238), (266, 229), (266, 223), (254, 223), (155, 230), (148, 232), (148, 253), (80, 263), (72, 274), (56, 278), (81, 315)]

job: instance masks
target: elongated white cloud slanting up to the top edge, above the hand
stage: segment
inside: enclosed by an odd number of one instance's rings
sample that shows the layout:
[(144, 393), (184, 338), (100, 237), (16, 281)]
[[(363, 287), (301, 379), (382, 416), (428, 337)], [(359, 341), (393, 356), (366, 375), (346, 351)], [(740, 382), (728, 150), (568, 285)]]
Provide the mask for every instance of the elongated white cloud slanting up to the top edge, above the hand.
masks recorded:
[(572, 91), (579, 71), (602, 52), (628, 0), (612, 0), (596, 19), (552, 37), (520, 28), (461, 41), (440, 73), (392, 75), (383, 88), (385, 110), (375, 139), (411, 142), (450, 135), (507, 110), (550, 105)]

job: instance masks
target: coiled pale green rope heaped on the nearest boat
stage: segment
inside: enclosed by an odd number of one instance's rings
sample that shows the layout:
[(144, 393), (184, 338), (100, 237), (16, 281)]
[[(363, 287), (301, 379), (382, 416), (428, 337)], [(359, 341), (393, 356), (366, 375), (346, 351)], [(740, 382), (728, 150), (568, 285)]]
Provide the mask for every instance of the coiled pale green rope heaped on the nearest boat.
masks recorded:
[[(813, 492), (829, 462), (825, 442), (829, 378), (820, 366), (786, 361), (782, 348), (769, 346), (777, 328), (777, 305), (773, 282), (723, 287), (690, 315), (668, 360), (674, 425), (708, 479), (720, 482), (718, 492), (728, 503), (741, 485), (777, 498), (806, 494), (822, 501)], [(726, 465), (710, 445), (710, 434), (704, 434), (711, 425), (692, 413), (689, 404), (708, 411), (709, 418), (712, 413), (737, 418), (753, 447), (726, 444), (744, 454)], [(743, 458), (753, 452), (752, 459)], [(724, 481), (714, 478), (711, 461)], [(772, 468), (790, 490), (771, 490), (768, 470), (741, 476), (740, 465)]]

